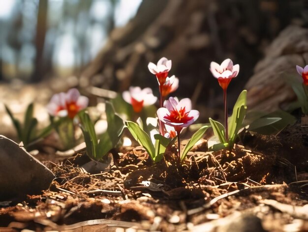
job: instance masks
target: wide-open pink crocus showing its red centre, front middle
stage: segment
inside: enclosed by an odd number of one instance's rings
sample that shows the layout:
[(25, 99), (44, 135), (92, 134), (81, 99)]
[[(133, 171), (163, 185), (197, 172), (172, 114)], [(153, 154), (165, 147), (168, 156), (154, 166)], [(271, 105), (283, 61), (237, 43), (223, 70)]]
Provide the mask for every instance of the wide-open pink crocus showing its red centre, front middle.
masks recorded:
[(164, 102), (164, 106), (157, 110), (158, 119), (166, 125), (174, 127), (177, 135), (180, 134), (183, 127), (189, 126), (199, 117), (199, 111), (191, 110), (189, 98), (179, 101), (176, 97), (170, 97)]

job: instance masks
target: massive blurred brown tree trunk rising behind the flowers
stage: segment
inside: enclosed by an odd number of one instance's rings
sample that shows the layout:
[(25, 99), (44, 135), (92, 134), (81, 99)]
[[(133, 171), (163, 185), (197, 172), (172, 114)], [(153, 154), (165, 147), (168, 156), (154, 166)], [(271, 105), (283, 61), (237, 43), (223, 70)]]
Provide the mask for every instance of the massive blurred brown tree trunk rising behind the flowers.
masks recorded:
[(180, 79), (175, 94), (201, 103), (206, 109), (201, 115), (208, 117), (213, 116), (210, 109), (223, 106), (223, 92), (209, 71), (210, 63), (231, 58), (241, 68), (228, 88), (230, 113), (262, 50), (299, 16), (299, 5), (293, 2), (288, 3), (289, 16), (280, 22), (278, 12), (285, 11), (285, 1), (144, 0), (131, 22), (112, 31), (106, 46), (82, 72), (81, 84), (120, 92), (129, 86), (152, 87), (157, 95), (157, 81), (147, 66), (166, 57), (172, 59), (169, 75)]

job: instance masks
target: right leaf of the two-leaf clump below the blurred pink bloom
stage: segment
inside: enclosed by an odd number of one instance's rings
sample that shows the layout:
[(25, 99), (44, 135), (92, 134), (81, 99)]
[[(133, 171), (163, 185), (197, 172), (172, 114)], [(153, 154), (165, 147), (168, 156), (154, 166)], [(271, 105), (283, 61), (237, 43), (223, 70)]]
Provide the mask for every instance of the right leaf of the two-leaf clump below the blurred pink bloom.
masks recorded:
[(124, 123), (120, 116), (115, 113), (115, 110), (110, 102), (106, 102), (107, 116), (107, 132), (113, 145), (116, 145), (121, 137), (124, 129)]

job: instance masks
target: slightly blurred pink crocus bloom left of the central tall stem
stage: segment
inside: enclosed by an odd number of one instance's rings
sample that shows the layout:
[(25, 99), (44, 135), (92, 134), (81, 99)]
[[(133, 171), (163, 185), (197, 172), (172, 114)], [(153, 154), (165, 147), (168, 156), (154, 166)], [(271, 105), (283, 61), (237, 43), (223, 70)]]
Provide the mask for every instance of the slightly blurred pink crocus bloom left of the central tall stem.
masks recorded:
[(122, 96), (124, 101), (132, 105), (136, 113), (141, 112), (144, 106), (153, 105), (157, 101), (151, 88), (129, 87), (129, 90), (124, 91)]

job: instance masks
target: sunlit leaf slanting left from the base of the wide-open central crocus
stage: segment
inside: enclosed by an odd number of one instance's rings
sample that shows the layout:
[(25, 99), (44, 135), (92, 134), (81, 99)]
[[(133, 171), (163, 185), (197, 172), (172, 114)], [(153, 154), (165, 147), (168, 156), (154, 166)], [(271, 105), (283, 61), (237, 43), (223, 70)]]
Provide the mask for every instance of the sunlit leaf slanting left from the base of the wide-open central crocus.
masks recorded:
[(155, 159), (155, 147), (152, 144), (152, 141), (150, 137), (148, 136), (148, 134), (144, 132), (144, 130), (142, 130), (140, 126), (135, 122), (125, 121), (125, 125), (130, 131), (131, 135), (134, 137), (134, 139), (146, 149), (146, 151), (149, 153), (151, 158), (154, 160)]

